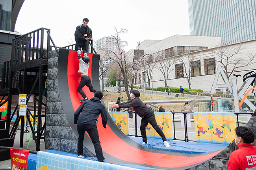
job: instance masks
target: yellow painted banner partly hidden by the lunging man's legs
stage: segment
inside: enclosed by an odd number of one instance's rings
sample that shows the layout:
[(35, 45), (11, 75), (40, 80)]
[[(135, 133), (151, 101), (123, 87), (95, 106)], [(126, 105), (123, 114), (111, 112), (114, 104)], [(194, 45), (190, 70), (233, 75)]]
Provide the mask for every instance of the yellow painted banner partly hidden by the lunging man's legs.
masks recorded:
[[(166, 139), (173, 140), (173, 119), (171, 112), (154, 112), (156, 123), (165, 134)], [(146, 134), (148, 138), (162, 139), (156, 130), (148, 123), (146, 127)]]

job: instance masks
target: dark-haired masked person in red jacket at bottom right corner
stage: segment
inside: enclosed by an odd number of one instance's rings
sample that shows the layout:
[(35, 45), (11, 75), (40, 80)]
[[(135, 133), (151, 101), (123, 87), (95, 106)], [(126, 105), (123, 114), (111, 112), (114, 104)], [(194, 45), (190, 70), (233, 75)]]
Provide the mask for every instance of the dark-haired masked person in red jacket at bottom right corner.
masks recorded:
[(238, 149), (230, 154), (227, 170), (249, 170), (256, 169), (256, 146), (251, 146), (254, 142), (252, 130), (247, 127), (236, 127), (234, 142)]

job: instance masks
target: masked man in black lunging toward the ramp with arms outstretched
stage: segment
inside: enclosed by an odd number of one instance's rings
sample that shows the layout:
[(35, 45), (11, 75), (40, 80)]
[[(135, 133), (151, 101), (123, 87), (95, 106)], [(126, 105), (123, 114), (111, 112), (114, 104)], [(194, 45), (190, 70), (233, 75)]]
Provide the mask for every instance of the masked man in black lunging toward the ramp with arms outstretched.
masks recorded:
[(141, 136), (143, 143), (142, 145), (145, 145), (147, 143), (147, 135), (146, 135), (146, 127), (148, 123), (152, 125), (152, 127), (156, 130), (156, 132), (161, 136), (163, 139), (163, 143), (166, 147), (169, 147), (169, 143), (166, 140), (165, 135), (163, 134), (163, 131), (161, 130), (160, 127), (158, 127), (156, 123), (156, 118), (154, 112), (147, 107), (141, 99), (139, 99), (140, 93), (138, 90), (132, 90), (132, 93), (130, 94), (130, 97), (132, 100), (119, 103), (119, 104), (113, 104), (111, 107), (113, 108), (130, 108), (133, 107), (134, 111), (142, 118), (141, 119)]

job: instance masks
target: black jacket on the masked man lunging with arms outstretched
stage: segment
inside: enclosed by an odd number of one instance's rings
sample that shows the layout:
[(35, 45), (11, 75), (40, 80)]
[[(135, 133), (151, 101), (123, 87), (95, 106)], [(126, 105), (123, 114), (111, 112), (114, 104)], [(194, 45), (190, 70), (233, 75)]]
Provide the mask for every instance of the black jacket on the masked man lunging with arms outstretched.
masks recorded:
[(118, 104), (120, 108), (130, 108), (133, 107), (134, 111), (141, 117), (144, 118), (146, 114), (152, 112), (152, 110), (141, 101), (138, 97), (131, 99), (130, 101), (126, 101)]

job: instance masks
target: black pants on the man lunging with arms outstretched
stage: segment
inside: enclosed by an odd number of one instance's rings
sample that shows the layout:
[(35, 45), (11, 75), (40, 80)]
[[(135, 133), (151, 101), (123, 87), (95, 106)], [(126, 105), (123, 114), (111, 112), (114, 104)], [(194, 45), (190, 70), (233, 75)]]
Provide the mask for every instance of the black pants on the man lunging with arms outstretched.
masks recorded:
[(156, 132), (161, 136), (163, 141), (167, 141), (165, 138), (165, 135), (163, 134), (163, 131), (156, 123), (156, 118), (155, 118), (154, 112), (150, 112), (149, 114), (146, 114), (144, 116), (144, 118), (141, 119), (140, 129), (141, 129), (141, 136), (142, 136), (143, 142), (147, 143), (146, 127), (147, 127), (148, 123), (150, 125), (152, 125), (152, 127), (156, 130)]

